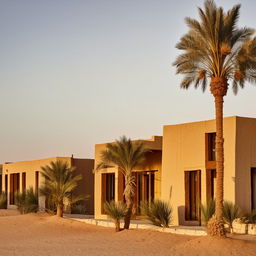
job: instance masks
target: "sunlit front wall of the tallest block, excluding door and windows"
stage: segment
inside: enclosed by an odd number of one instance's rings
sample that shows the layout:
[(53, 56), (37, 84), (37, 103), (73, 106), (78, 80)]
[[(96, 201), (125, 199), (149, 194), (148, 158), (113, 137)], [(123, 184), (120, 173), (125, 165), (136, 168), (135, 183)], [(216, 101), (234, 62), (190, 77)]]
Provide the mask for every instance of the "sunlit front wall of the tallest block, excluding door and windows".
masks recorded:
[[(224, 197), (235, 200), (236, 117), (224, 119)], [(215, 132), (215, 120), (164, 126), (161, 198), (173, 206), (174, 225), (198, 225), (185, 221), (184, 171), (201, 170), (201, 201), (206, 202), (205, 134)]]

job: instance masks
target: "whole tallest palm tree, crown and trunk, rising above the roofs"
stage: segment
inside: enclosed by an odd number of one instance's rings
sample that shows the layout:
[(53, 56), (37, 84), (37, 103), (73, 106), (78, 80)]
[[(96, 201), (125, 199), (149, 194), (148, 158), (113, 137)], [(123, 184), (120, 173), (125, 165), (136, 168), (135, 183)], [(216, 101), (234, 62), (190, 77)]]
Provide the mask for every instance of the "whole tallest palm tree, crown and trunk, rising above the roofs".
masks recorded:
[[(216, 222), (218, 235), (224, 235), (223, 224), (223, 99), (232, 82), (236, 94), (246, 81), (256, 82), (256, 38), (253, 30), (238, 28), (240, 5), (227, 13), (217, 8), (214, 1), (205, 1), (205, 9), (199, 10), (200, 20), (186, 18), (189, 31), (176, 45), (183, 54), (174, 62), (178, 74), (184, 75), (181, 88), (194, 83), (205, 91), (210, 80), (210, 91), (215, 99), (216, 112)], [(217, 224), (216, 224), (217, 225)]]

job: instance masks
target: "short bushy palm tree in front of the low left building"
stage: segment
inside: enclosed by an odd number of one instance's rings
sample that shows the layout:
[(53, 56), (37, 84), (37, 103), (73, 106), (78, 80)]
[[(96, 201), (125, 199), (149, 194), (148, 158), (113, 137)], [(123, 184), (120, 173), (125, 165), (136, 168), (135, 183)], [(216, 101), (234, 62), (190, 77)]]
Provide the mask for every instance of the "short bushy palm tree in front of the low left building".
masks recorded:
[(63, 217), (64, 201), (75, 203), (84, 199), (84, 196), (72, 196), (72, 191), (82, 176), (74, 176), (75, 167), (69, 167), (67, 162), (60, 160), (51, 162), (41, 169), (45, 184), (40, 187), (40, 193), (53, 201), (57, 208), (57, 216)]

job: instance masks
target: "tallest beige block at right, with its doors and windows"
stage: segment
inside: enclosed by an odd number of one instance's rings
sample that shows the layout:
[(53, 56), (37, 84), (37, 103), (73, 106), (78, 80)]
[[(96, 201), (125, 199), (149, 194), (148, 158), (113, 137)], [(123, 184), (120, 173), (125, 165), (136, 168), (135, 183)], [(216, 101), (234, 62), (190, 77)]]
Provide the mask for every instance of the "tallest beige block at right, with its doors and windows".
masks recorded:
[[(164, 126), (161, 198), (172, 191), (173, 224), (200, 225), (200, 202), (214, 198), (215, 131), (215, 120)], [(256, 209), (256, 119), (224, 118), (224, 156), (224, 199)]]

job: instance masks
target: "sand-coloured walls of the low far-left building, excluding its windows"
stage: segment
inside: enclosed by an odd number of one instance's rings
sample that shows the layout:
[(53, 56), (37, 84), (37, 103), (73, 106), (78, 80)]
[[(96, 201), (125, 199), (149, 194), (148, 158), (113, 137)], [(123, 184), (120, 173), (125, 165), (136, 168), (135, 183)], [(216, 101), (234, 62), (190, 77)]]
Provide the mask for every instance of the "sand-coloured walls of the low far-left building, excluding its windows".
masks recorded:
[[(91, 159), (74, 159), (71, 157), (52, 157), (47, 159), (41, 159), (41, 160), (33, 160), (33, 161), (23, 161), (23, 162), (15, 162), (15, 163), (6, 163), (3, 164), (3, 170), (2, 170), (2, 190), (6, 191), (5, 188), (5, 175), (8, 175), (8, 208), (16, 208), (15, 205), (10, 205), (10, 175), (13, 173), (19, 173), (20, 174), (20, 184), (19, 184), (19, 191), (22, 191), (22, 173), (26, 173), (26, 189), (32, 187), (35, 190), (36, 186), (36, 171), (39, 171), (39, 188), (44, 183), (44, 179), (42, 175), (40, 174), (41, 167), (49, 165), (52, 161), (62, 160), (69, 164), (69, 166), (77, 165), (77, 173), (83, 175), (83, 180), (80, 182), (79, 187), (74, 191), (74, 193), (78, 193), (78, 191), (85, 191), (93, 193), (93, 175), (91, 170), (93, 169), (93, 163), (94, 161)], [(82, 185), (83, 184), (83, 185)], [(85, 184), (85, 185), (84, 185)], [(88, 188), (86, 185), (88, 184)], [(81, 187), (81, 186), (85, 186)], [(92, 197), (89, 199), (88, 205), (90, 212), (93, 211), (93, 194)], [(39, 197), (39, 208), (44, 209), (45, 208), (45, 198), (43, 196)]]

